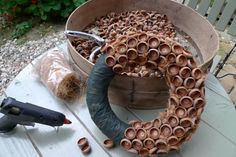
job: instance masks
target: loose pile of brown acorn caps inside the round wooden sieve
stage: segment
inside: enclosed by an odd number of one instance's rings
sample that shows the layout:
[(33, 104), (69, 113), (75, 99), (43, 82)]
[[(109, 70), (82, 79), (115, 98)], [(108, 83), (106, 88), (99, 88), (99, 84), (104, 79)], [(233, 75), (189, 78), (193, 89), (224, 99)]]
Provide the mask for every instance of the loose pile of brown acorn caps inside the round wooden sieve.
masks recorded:
[[(84, 31), (98, 35), (107, 42), (116, 40), (120, 35), (137, 31), (153, 32), (169, 38), (176, 36), (175, 28), (166, 15), (159, 14), (157, 11), (145, 10), (109, 13), (96, 19)], [(80, 38), (74, 38), (72, 45), (86, 59), (98, 46), (90, 40)]]

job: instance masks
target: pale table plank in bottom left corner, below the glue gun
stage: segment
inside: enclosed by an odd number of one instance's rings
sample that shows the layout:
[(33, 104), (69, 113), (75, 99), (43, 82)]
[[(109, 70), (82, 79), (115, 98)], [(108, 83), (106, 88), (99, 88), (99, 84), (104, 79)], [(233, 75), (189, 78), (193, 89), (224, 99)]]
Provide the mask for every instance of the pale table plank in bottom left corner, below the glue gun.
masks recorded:
[(12, 132), (0, 134), (1, 157), (39, 157), (23, 126), (17, 126)]

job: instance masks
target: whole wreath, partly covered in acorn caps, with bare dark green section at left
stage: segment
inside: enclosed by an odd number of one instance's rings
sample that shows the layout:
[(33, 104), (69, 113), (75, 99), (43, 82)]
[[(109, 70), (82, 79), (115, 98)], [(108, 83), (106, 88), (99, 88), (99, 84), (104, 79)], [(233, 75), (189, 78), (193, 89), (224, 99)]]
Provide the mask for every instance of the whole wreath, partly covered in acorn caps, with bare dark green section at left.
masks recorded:
[[(102, 51), (88, 79), (87, 104), (95, 124), (132, 153), (178, 150), (198, 128), (205, 106), (205, 74), (191, 52), (171, 39), (145, 32), (122, 35)], [(111, 110), (107, 94), (115, 74), (163, 76), (170, 94), (166, 110), (149, 122), (121, 121)]]

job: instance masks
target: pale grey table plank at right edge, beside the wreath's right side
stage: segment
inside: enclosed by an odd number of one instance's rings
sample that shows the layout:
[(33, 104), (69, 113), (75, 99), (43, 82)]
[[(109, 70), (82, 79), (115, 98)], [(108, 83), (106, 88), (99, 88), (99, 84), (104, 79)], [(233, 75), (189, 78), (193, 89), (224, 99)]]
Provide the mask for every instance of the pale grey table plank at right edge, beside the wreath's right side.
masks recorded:
[(203, 120), (236, 145), (236, 110), (233, 103), (209, 89), (206, 89), (206, 96)]

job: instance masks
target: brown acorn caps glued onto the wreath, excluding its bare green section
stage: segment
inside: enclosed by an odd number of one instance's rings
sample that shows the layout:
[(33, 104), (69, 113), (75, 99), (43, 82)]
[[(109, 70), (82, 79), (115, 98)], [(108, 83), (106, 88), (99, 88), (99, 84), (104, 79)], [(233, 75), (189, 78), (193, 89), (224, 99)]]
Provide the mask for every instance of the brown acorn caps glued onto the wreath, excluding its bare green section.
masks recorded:
[(120, 36), (102, 51), (114, 72), (137, 77), (157, 72), (170, 87), (166, 111), (149, 122), (131, 122), (121, 146), (142, 156), (178, 150), (197, 129), (205, 105), (205, 76), (192, 54), (175, 41), (146, 32)]

